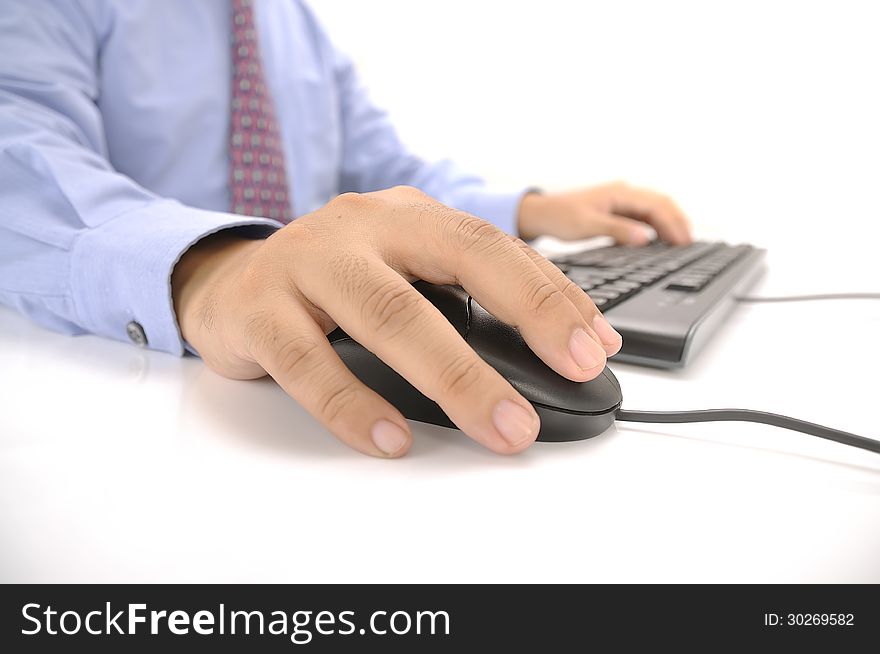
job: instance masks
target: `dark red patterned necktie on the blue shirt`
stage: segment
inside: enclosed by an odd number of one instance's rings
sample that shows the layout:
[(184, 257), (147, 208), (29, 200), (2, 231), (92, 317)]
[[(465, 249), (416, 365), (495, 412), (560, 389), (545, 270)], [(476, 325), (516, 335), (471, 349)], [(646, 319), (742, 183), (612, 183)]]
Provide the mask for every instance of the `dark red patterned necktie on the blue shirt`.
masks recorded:
[(263, 76), (252, 0), (232, 0), (232, 210), (290, 222), (284, 151)]

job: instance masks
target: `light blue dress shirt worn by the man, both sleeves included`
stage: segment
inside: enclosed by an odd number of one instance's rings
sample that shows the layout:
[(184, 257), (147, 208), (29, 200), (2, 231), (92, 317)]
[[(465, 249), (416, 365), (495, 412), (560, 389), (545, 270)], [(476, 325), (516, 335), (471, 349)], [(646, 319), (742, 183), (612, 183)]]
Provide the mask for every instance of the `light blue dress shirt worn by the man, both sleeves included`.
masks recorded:
[[(522, 191), (409, 152), (302, 2), (255, 0), (255, 18), (294, 215), (409, 184), (514, 232)], [(183, 352), (180, 256), (279, 226), (228, 213), (230, 19), (222, 0), (0, 0), (0, 303)]]

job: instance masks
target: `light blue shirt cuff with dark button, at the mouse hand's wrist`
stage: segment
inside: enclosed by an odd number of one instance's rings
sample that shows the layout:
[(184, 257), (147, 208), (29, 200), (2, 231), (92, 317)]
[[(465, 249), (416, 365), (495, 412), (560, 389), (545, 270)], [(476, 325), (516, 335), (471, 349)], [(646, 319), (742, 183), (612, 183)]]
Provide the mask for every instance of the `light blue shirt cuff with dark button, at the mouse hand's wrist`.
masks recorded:
[[(184, 344), (171, 298), (171, 273), (180, 257), (222, 229), (265, 238), (280, 227), (267, 218), (204, 211), (173, 200), (116, 216), (83, 232), (73, 245), (70, 279), (79, 324), (100, 336), (141, 341), (180, 356)], [(140, 338), (132, 335), (132, 323)]]

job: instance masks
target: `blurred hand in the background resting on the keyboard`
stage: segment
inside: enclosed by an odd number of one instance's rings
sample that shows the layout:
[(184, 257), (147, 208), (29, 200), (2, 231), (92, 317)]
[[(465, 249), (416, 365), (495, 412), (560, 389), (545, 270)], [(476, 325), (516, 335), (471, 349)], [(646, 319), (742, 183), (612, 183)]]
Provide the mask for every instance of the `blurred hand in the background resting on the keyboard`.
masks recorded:
[(645, 245), (648, 235), (639, 223), (669, 243), (691, 242), (687, 218), (671, 199), (622, 182), (567, 193), (528, 193), (518, 215), (519, 234), (526, 239), (611, 236), (623, 245)]

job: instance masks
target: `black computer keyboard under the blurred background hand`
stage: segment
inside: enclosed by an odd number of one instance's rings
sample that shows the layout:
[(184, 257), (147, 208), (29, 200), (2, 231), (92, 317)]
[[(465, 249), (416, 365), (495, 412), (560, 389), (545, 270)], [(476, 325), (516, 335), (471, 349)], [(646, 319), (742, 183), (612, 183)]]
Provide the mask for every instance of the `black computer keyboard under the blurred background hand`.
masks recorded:
[(683, 366), (764, 269), (751, 245), (655, 242), (584, 250), (554, 259), (623, 336), (615, 357)]

